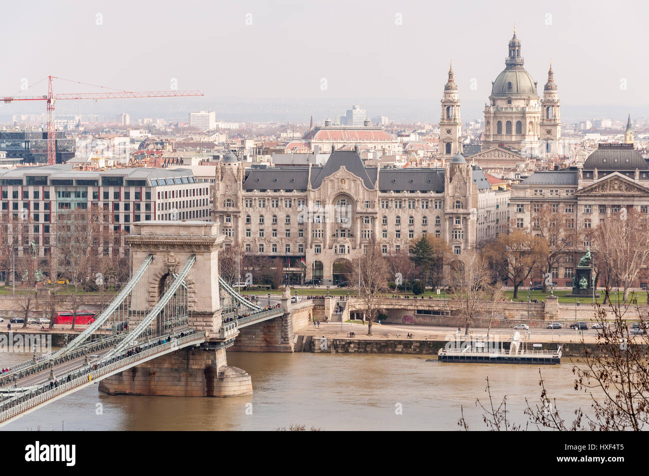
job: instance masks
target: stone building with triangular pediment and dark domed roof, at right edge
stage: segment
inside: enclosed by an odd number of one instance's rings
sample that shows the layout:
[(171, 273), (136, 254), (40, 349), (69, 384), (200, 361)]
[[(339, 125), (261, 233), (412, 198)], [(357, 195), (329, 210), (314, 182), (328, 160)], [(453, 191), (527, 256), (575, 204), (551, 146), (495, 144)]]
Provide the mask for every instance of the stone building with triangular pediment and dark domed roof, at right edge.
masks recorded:
[[(626, 140), (632, 140), (632, 134), (629, 126)], [(649, 212), (649, 164), (633, 144), (600, 144), (582, 169), (535, 172), (511, 186), (511, 225), (534, 234), (538, 232), (535, 215), (556, 214), (568, 232), (580, 232), (622, 208)], [(555, 283), (572, 286), (576, 259), (588, 247), (589, 242), (575, 240), (557, 259), (552, 268)], [(541, 277), (537, 275), (533, 282), (539, 284)]]

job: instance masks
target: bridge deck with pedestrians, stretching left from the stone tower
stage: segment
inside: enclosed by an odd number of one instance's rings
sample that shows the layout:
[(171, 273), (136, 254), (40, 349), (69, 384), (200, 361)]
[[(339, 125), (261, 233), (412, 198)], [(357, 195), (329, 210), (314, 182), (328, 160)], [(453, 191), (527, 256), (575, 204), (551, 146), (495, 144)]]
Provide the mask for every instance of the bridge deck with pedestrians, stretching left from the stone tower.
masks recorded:
[[(158, 341), (140, 344), (143, 347), (140, 353), (134, 353), (128, 357), (126, 352), (124, 352), (104, 360), (101, 360), (101, 358), (97, 359), (95, 360), (97, 364), (96, 369), (93, 369), (92, 363), (89, 363), (87, 366), (77, 366), (74, 370), (68, 369), (63, 375), (57, 375), (57, 378), (60, 378), (60, 384), (54, 388), (48, 390), (48, 378), (40, 386), (36, 386), (34, 390), (26, 391), (12, 397), (6, 397), (0, 401), (0, 427), (59, 398), (102, 381), (111, 375), (123, 372), (167, 353), (175, 352), (178, 349), (192, 345), (200, 345), (203, 342), (205, 342), (205, 333), (194, 332), (181, 338), (174, 336), (164, 344), (158, 344)], [(132, 350), (134, 347), (126, 350)], [(69, 382), (67, 382), (67, 374), (71, 374), (71, 381)], [(42, 373), (36, 375), (42, 375)], [(66, 381), (64, 381), (64, 377)]]

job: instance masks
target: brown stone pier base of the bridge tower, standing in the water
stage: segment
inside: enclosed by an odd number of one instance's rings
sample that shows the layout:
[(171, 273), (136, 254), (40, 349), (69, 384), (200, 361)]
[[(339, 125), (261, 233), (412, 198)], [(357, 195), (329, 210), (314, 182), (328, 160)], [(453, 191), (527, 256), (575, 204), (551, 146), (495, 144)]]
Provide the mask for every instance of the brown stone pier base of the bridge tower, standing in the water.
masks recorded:
[(187, 347), (99, 382), (108, 395), (234, 397), (252, 395), (245, 370), (228, 367), (225, 347)]

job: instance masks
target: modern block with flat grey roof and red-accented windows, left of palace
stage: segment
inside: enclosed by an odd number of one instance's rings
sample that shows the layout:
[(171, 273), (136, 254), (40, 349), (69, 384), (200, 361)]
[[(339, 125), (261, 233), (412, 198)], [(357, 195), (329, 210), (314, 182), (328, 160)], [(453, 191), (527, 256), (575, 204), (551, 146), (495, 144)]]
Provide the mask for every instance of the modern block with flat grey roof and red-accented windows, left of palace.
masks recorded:
[(103, 210), (113, 230), (125, 233), (136, 221), (209, 221), (209, 185), (188, 169), (77, 171), (56, 165), (0, 171), (0, 216), (5, 223), (27, 221), (29, 238), (23, 242), (33, 241), (42, 257), (53, 243), (56, 216), (90, 207)]

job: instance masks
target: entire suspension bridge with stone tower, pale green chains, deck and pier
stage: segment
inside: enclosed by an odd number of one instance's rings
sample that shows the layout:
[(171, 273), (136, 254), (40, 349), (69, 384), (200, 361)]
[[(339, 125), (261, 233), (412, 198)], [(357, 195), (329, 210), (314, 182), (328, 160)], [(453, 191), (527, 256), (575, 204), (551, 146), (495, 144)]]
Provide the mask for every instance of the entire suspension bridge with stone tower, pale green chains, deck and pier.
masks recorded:
[(250, 375), (228, 366), (225, 350), (240, 329), (271, 319), (282, 325), (286, 296), (284, 306), (264, 307), (219, 277), (218, 223), (146, 221), (132, 229), (129, 282), (66, 346), (3, 374), (0, 426), (97, 382), (108, 394), (252, 394)]

